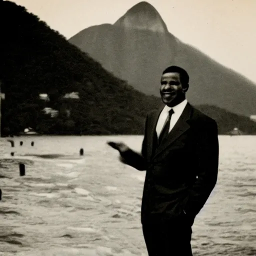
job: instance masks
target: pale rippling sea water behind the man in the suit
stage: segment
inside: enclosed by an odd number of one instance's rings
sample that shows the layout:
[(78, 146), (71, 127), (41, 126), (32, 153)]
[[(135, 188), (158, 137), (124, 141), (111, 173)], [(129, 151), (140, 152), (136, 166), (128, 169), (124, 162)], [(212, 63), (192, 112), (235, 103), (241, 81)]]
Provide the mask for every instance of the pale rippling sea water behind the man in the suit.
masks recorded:
[[(11, 139), (14, 147), (0, 138), (0, 255), (147, 255), (145, 172), (120, 163), (106, 144), (139, 151), (142, 136)], [(193, 254), (256, 255), (256, 136), (220, 135), (219, 149), (217, 184), (192, 227)]]

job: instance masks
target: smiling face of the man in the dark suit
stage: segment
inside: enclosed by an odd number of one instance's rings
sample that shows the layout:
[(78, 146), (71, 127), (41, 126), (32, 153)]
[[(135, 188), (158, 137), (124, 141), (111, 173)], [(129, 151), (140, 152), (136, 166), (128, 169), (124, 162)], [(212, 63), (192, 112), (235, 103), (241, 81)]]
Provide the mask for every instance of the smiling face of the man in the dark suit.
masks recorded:
[(160, 94), (164, 104), (174, 106), (185, 98), (179, 73), (164, 73), (161, 77)]

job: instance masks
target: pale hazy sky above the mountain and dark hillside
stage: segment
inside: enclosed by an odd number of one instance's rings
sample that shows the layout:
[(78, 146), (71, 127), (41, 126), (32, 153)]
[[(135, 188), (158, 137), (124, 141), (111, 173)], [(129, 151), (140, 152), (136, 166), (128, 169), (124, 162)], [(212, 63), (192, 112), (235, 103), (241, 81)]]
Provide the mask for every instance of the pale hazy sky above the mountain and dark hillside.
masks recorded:
[[(139, 0), (12, 0), (67, 39), (114, 23)], [(256, 0), (147, 0), (169, 32), (256, 82)]]

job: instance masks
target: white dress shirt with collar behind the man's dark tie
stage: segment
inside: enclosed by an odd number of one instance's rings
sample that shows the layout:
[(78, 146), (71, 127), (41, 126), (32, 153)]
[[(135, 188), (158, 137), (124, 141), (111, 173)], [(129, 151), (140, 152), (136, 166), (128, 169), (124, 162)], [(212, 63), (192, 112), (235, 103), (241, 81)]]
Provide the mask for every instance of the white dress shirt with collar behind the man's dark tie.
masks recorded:
[(180, 102), (179, 104), (173, 106), (173, 107), (169, 107), (167, 105), (165, 105), (159, 115), (157, 124), (156, 124), (156, 133), (157, 133), (157, 137), (159, 138), (159, 134), (163, 128), (163, 125), (169, 115), (169, 110), (172, 108), (174, 113), (171, 115), (170, 118), (170, 127), (169, 127), (169, 132), (171, 131), (171, 129), (173, 128), (173, 126), (175, 125), (175, 123), (177, 122), (178, 118), (180, 117), (181, 113), (183, 112), (185, 106), (187, 104), (187, 100), (184, 99), (182, 102)]

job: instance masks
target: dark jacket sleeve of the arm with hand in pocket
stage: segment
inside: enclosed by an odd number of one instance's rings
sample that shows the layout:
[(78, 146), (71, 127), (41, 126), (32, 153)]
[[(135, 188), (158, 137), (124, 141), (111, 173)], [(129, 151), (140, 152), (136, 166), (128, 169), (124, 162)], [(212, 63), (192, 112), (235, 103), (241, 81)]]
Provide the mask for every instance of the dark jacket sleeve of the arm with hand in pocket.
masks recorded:
[(213, 119), (204, 120), (195, 133), (194, 170), (197, 178), (188, 190), (183, 210), (195, 216), (203, 207), (217, 181), (218, 172), (218, 129)]

